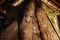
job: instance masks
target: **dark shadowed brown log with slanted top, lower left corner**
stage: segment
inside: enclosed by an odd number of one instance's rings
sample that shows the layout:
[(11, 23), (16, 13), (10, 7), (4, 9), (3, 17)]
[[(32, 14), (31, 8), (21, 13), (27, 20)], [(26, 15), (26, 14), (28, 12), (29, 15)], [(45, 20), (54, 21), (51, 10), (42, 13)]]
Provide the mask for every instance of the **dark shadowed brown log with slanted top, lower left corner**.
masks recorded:
[(18, 24), (15, 20), (9, 27), (0, 35), (0, 40), (18, 40)]

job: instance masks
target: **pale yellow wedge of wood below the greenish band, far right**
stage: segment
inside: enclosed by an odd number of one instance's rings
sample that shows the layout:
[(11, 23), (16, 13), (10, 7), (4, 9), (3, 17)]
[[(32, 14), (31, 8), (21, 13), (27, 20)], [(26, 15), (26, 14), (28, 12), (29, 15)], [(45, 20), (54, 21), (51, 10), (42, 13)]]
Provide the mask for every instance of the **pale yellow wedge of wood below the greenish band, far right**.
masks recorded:
[(56, 31), (56, 33), (58, 34), (58, 36), (60, 37), (60, 30), (59, 30), (59, 21), (58, 21), (58, 17), (57, 16), (49, 16), (49, 19), (51, 20), (51, 23), (53, 24), (53, 27)]

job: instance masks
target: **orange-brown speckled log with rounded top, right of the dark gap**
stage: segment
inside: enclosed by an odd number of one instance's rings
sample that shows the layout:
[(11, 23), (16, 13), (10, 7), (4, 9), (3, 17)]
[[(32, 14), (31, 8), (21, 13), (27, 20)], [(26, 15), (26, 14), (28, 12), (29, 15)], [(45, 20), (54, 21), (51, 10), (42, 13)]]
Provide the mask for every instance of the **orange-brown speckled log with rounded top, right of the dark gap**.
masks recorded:
[(38, 8), (36, 14), (43, 40), (60, 40), (54, 31), (50, 21), (48, 20), (45, 10), (43, 8)]

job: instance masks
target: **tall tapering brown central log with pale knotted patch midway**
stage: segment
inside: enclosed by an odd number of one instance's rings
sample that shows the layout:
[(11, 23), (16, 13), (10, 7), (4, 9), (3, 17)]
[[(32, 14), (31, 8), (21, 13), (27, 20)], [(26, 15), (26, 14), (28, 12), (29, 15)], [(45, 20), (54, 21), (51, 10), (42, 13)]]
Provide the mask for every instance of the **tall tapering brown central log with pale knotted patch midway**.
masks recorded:
[(34, 14), (34, 4), (30, 2), (24, 12), (24, 18), (21, 24), (23, 40), (32, 40), (32, 16)]

